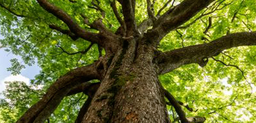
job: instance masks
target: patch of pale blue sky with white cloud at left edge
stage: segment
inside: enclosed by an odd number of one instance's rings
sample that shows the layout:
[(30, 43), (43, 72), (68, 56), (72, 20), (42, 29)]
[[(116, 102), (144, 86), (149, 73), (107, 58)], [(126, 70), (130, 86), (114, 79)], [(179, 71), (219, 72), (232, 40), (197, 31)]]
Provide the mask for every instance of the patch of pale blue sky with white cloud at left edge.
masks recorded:
[[(2, 38), (0, 35), (0, 39)], [(13, 55), (12, 52), (6, 52), (5, 48), (0, 48), (0, 93), (5, 89), (6, 81), (23, 81), (29, 84), (29, 81), (40, 72), (40, 67), (37, 64), (33, 64), (32, 66), (26, 66), (21, 71), (21, 74), (12, 75), (10, 71), (7, 71), (7, 68), (11, 66), (10, 60), (13, 58), (17, 58), (19, 62), (22, 62), (20, 56)], [(0, 98), (3, 98), (2, 94), (0, 94)]]

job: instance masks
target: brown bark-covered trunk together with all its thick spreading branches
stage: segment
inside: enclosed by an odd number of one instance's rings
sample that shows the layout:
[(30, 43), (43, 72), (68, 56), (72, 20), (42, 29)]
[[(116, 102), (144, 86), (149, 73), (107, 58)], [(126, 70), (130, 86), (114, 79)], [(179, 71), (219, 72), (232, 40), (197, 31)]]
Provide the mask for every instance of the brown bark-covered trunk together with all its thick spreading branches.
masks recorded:
[[(73, 40), (82, 38), (90, 41), (91, 46), (97, 43), (99, 49), (104, 48), (106, 55), (100, 56), (92, 65), (76, 68), (60, 77), (17, 123), (44, 123), (64, 96), (80, 92), (88, 95), (88, 99), (81, 107), (76, 123), (170, 123), (164, 96), (175, 107), (182, 123), (204, 123), (204, 117), (186, 118), (180, 104), (161, 86), (158, 75), (185, 64), (205, 66), (207, 58), (228, 48), (256, 45), (256, 32), (241, 32), (210, 43), (168, 52), (157, 50), (166, 34), (190, 20), (214, 0), (183, 0), (163, 15), (159, 12), (157, 16), (149, 7), (151, 1), (147, 0), (149, 19), (138, 26), (135, 20), (135, 0), (118, 0), (124, 20), (114, 0), (111, 7), (121, 25), (115, 33), (104, 26), (102, 18), (89, 23), (87, 17), (82, 15), (85, 24), (99, 31), (88, 32), (62, 9), (47, 0), (37, 1), (47, 12), (63, 21), (69, 30), (55, 25), (49, 25), (50, 28), (69, 35)], [(104, 18), (104, 10), (98, 5), (96, 7), (101, 10)], [(148, 30), (149, 27), (152, 29)], [(89, 83), (90, 80), (100, 82)]]

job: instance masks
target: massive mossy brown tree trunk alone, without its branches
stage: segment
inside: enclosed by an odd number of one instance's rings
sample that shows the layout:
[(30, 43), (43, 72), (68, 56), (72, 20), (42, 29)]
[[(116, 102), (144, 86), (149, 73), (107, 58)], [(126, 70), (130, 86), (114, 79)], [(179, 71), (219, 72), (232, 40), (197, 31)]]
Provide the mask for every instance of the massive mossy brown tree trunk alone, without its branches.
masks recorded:
[(123, 41), (82, 123), (169, 123), (154, 48)]

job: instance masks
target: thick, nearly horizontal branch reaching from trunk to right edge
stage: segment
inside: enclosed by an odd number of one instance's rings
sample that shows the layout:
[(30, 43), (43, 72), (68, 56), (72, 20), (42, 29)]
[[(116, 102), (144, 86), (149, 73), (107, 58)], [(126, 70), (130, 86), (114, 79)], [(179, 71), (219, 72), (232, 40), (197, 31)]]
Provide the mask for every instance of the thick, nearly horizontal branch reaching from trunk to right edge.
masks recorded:
[(200, 45), (188, 46), (164, 52), (156, 58), (159, 74), (168, 73), (185, 64), (205, 66), (208, 58), (217, 56), (225, 49), (256, 45), (256, 32), (238, 32)]

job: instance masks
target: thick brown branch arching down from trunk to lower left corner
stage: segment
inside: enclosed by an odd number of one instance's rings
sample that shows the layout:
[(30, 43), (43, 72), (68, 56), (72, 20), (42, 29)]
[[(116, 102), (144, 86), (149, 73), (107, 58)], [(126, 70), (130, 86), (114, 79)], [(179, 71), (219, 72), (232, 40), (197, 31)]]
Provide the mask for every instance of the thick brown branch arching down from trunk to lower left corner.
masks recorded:
[(43, 123), (57, 108), (57, 105), (59, 105), (64, 96), (69, 93), (71, 87), (101, 78), (100, 73), (96, 69), (96, 64), (97, 63), (76, 68), (60, 77), (50, 86), (43, 98), (30, 107), (27, 112), (19, 118), (17, 123), (33, 123), (34, 121), (36, 121), (36, 123)]

